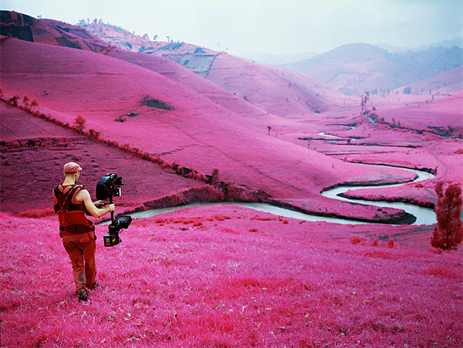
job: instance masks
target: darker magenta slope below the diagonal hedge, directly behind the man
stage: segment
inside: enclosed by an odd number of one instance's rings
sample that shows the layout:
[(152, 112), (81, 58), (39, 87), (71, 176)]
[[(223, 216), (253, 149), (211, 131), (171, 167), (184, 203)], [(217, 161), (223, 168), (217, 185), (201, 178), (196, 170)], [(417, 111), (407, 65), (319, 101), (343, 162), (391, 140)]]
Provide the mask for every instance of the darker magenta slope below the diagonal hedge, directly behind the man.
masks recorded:
[[(78, 161), (84, 169), (79, 183), (85, 185), (93, 198), (95, 186), (105, 173), (117, 173), (137, 180), (125, 180), (123, 195), (118, 198), (120, 210), (134, 205), (182, 203), (182, 193), (203, 191), (205, 185), (176, 175), (160, 165), (135, 158), (123, 151), (80, 136), (53, 123), (28, 115), (12, 106), (0, 104), (2, 148), (1, 210), (24, 213), (29, 210), (51, 210), (51, 191), (63, 181), (63, 163)], [(174, 195), (177, 196), (175, 202)], [(154, 205), (154, 204), (152, 204)], [(38, 212), (39, 215), (43, 212)]]

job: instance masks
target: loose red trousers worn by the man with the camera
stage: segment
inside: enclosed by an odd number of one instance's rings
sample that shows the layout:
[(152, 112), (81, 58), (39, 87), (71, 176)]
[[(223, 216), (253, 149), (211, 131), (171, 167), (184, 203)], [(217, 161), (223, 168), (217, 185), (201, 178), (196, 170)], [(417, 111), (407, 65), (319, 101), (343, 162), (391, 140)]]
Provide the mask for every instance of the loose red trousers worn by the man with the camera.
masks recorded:
[(95, 287), (95, 232), (90, 231), (79, 235), (64, 234), (63, 245), (68, 252), (73, 265), (76, 290), (91, 290)]

